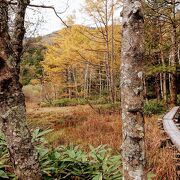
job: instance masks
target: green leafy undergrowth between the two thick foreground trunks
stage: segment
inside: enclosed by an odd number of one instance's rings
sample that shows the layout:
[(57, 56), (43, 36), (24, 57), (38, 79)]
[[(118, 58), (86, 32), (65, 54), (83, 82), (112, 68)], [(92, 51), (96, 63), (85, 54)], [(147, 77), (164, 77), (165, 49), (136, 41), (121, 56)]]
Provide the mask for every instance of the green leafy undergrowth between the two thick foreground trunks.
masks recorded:
[(105, 146), (91, 147), (89, 153), (80, 150), (78, 146), (60, 146), (54, 151), (42, 151), (41, 154), (44, 179), (99, 180), (102, 177), (104, 180), (119, 180), (121, 178), (120, 157), (111, 155), (111, 150), (106, 149)]

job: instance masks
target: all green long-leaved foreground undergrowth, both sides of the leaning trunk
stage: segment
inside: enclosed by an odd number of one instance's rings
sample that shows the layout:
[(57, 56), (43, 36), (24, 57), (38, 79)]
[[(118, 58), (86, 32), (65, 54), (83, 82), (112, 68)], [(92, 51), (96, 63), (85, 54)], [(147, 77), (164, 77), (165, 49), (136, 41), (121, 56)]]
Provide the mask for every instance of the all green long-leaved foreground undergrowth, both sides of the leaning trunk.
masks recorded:
[[(97, 148), (90, 146), (86, 153), (78, 146), (48, 147), (43, 137), (52, 130), (36, 129), (32, 134), (32, 142), (36, 144), (41, 172), (44, 180), (119, 180), (121, 179), (121, 159), (113, 155), (112, 150), (105, 145)], [(11, 167), (6, 142), (0, 136), (0, 179), (13, 179), (15, 174), (7, 171)]]

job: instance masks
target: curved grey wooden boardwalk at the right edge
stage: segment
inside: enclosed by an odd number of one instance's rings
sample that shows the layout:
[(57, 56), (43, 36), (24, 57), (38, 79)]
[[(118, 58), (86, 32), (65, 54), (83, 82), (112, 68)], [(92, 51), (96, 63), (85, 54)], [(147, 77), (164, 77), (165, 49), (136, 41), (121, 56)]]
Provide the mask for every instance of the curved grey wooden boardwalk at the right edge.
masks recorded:
[(163, 117), (163, 128), (180, 152), (180, 107), (176, 106)]

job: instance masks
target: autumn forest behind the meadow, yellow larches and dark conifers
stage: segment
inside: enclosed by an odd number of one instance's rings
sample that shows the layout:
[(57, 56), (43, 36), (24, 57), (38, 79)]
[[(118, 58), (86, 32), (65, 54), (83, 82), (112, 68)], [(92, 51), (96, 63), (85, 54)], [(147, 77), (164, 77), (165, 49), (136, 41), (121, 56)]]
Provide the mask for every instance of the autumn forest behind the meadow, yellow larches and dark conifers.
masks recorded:
[[(144, 6), (145, 98), (165, 108), (174, 106), (180, 86), (178, 3), (152, 1)], [(75, 24), (72, 14), (66, 19), (68, 28), (27, 39), (21, 64), (27, 99), (42, 106), (120, 102), (121, 25), (114, 18), (118, 8), (118, 1), (107, 6), (86, 1), (83, 12), (95, 26)]]

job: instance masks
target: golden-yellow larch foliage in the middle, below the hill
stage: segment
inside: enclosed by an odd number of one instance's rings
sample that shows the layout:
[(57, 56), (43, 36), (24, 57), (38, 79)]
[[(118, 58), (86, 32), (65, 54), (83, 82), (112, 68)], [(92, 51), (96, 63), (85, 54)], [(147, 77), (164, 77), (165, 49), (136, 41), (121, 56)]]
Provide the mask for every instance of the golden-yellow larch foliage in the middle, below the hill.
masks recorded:
[[(108, 28), (111, 34), (111, 26)], [(119, 34), (120, 26), (116, 25), (114, 26), (113, 41), (114, 60), (109, 66), (118, 82), (120, 67)], [(47, 45), (45, 60), (42, 63), (44, 77), (59, 88), (72, 87), (80, 93), (84, 90), (87, 76), (88, 78), (93, 77), (97, 81), (99, 69), (101, 69), (101, 73), (105, 73), (106, 54), (105, 39), (98, 28), (73, 25), (62, 29), (53, 38), (53, 42)], [(105, 74), (102, 76), (106, 77)]]

